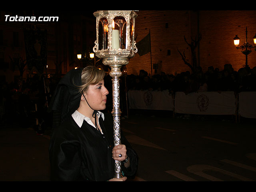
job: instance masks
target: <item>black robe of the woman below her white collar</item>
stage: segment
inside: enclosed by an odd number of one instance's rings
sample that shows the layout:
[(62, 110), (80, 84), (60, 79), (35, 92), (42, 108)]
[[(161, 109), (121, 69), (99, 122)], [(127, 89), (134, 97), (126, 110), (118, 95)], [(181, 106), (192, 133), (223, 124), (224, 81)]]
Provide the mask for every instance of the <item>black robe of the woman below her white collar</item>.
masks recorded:
[[(67, 118), (52, 134), (49, 155), (51, 180), (62, 181), (106, 181), (114, 177), (113, 122), (104, 114), (99, 118), (102, 132), (85, 120), (80, 128), (72, 116)], [(138, 167), (138, 156), (121, 130), (121, 143), (126, 145), (130, 167), (121, 166), (124, 176), (134, 177)]]

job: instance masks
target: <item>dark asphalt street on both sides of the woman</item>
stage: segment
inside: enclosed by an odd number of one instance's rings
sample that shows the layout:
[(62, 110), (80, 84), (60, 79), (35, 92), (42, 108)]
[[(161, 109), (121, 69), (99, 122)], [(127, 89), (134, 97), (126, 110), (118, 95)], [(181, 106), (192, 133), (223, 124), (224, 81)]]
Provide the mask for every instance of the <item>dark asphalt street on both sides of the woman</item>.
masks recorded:
[[(231, 116), (172, 116), (138, 112), (121, 120), (126, 138), (139, 156), (129, 181), (255, 181), (255, 120)], [(254, 124), (254, 125), (253, 125)], [(49, 181), (48, 144), (32, 128), (0, 129), (0, 180)]]

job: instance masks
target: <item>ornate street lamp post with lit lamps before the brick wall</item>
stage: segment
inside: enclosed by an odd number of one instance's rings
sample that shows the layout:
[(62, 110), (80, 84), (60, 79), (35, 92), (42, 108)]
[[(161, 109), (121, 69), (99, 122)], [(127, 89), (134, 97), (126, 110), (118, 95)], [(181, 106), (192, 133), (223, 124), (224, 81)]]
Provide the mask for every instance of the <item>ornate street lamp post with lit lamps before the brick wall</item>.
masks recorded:
[[(254, 44), (256, 44), (256, 34), (255, 34), (255, 36), (253, 37), (253, 40), (254, 40)], [(239, 41), (240, 41), (240, 38), (236, 35), (236, 36), (234, 37), (234, 44), (235, 44), (235, 46), (236, 46), (237, 49), (242, 49), (242, 53), (246, 56), (246, 59), (245, 59), (245, 66), (248, 67), (248, 63), (247, 63), (248, 54), (250, 54), (250, 53), (252, 52), (251, 49), (254, 48), (254, 47), (256, 47), (256, 46), (253, 46), (252, 44), (250, 44), (250, 43), (247, 42), (247, 27), (246, 27), (245, 43), (238, 47)]]

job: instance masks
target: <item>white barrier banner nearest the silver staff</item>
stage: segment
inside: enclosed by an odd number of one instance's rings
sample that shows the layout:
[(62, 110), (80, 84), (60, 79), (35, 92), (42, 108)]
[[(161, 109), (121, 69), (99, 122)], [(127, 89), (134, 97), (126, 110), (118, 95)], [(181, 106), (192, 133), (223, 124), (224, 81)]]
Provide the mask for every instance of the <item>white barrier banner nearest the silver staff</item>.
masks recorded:
[(130, 109), (173, 110), (173, 98), (168, 90), (129, 90), (127, 94)]

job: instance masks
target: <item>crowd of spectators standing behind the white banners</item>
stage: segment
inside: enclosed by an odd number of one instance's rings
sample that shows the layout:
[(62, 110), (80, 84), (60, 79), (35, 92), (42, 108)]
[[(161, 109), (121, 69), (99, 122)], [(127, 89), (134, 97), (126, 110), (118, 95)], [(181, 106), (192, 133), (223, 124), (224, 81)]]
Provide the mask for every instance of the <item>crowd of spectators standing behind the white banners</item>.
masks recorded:
[(256, 91), (256, 67), (240, 68), (235, 71), (231, 64), (224, 65), (223, 70), (209, 66), (206, 72), (197, 67), (194, 72), (180, 74), (155, 74), (152, 77), (144, 70), (139, 75), (127, 76), (128, 90), (169, 90), (170, 93), (202, 91)]

